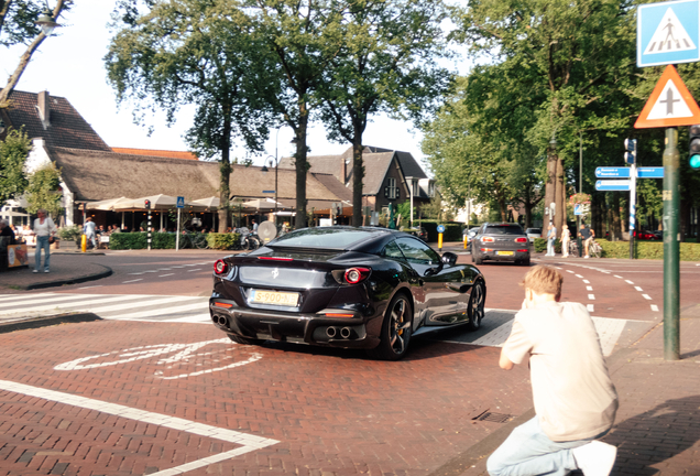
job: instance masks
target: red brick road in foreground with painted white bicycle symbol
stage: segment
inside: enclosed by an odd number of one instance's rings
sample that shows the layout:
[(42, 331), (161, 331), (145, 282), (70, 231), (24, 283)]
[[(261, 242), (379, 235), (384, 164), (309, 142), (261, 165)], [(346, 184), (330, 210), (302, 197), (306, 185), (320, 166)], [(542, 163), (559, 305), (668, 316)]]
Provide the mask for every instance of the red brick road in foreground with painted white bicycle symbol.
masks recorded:
[[(278, 441), (190, 474), (425, 475), (500, 426), (474, 416), (531, 405), (525, 369), (494, 378), (495, 348), (416, 339), (406, 360), (381, 363), (221, 337), (196, 324), (114, 321), (1, 335), (0, 474), (165, 475), (240, 447), (152, 423), (176, 416)], [(94, 407), (62, 401), (69, 396)], [(109, 404), (142, 412), (118, 416)]]

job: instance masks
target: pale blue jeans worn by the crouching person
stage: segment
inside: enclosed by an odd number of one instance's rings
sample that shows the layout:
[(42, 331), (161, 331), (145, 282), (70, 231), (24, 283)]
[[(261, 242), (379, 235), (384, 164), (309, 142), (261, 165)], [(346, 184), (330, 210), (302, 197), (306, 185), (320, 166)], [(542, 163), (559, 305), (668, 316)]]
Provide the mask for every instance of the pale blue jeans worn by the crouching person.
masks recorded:
[(513, 430), (489, 457), (486, 468), (491, 476), (565, 476), (578, 469), (571, 448), (600, 436), (602, 434), (590, 440), (553, 442), (542, 431), (539, 419), (535, 416)]

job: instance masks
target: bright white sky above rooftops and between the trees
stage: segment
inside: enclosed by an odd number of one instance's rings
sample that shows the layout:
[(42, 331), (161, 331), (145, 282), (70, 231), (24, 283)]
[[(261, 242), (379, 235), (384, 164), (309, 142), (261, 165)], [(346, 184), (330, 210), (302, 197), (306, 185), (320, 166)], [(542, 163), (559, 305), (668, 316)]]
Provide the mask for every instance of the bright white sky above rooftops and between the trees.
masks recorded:
[[(57, 35), (45, 40), (33, 55), (17, 89), (30, 93), (48, 90), (51, 95), (65, 97), (110, 147), (187, 150), (183, 136), (192, 125), (193, 107), (184, 107), (171, 128), (165, 125), (164, 115), (151, 118), (154, 131), (150, 137), (145, 127), (133, 123), (131, 110), (123, 106), (118, 109), (114, 93), (107, 84), (102, 62), (111, 37), (107, 24), (113, 4), (113, 1), (108, 0), (76, 2), (73, 10), (58, 20), (63, 26), (57, 29)], [(0, 75), (3, 75), (3, 82), (14, 71), (23, 51), (24, 47), (0, 48)], [(292, 137), (292, 129), (282, 128), (278, 133), (280, 156), (294, 152), (289, 143)], [(414, 130), (409, 122), (378, 116), (368, 127), (363, 142), (407, 151), (422, 160), (420, 140), (420, 132)], [(308, 144), (314, 155), (340, 153), (349, 147), (329, 142), (318, 123), (311, 125)], [(274, 153), (273, 131), (265, 144), (264, 155)], [(247, 152), (242, 147), (237, 147), (232, 155), (244, 159)], [(254, 163), (262, 164), (264, 156), (252, 159)]]

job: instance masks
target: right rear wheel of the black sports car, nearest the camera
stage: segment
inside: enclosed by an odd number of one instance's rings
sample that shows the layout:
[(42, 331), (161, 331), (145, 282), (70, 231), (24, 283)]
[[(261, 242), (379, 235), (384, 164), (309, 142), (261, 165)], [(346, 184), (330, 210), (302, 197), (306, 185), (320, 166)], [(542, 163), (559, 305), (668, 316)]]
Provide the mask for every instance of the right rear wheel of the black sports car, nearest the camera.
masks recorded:
[(411, 340), (411, 303), (405, 295), (397, 294), (386, 309), (380, 345), (368, 350), (370, 356), (382, 360), (398, 360), (406, 355)]

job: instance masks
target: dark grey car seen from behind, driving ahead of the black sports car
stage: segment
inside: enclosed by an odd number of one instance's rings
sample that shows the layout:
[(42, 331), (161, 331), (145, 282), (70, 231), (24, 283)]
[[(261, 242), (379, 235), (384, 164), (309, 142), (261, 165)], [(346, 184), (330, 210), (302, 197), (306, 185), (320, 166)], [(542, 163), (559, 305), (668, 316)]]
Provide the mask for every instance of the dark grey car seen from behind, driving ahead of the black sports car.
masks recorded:
[(486, 223), (471, 242), (472, 262), (515, 261), (529, 264), (529, 240), (518, 224)]

